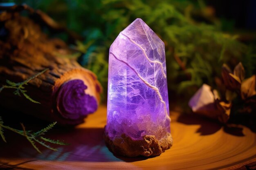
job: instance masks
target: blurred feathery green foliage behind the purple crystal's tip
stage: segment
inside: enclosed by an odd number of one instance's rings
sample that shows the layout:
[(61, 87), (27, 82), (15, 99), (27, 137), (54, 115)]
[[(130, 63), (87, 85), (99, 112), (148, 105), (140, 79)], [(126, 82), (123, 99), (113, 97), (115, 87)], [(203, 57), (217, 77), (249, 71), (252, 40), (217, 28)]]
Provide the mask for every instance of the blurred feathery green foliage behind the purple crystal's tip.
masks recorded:
[[(11, 1), (9, 1), (11, 2)], [(143, 19), (165, 42), (169, 98), (184, 101), (203, 83), (215, 86), (222, 64), (243, 62), (247, 76), (255, 73), (254, 45), (223, 33), (231, 22), (207, 12), (204, 1), (189, 0), (23, 0), (84, 38), (75, 48), (78, 61), (97, 74), (106, 94), (108, 49), (120, 31)], [(196, 20), (200, 16), (200, 21)], [(60, 34), (64, 40), (66, 35)], [(179, 60), (181, 64), (177, 62)], [(106, 95), (105, 95), (106, 97)]]

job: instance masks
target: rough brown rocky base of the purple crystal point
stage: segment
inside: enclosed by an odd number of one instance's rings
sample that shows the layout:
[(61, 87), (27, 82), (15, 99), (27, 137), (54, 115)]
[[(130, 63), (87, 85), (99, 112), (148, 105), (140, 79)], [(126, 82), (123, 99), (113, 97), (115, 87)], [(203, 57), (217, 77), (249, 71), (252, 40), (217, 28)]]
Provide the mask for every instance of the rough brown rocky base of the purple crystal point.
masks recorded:
[(154, 135), (145, 135), (141, 140), (133, 140), (125, 134), (113, 140), (105, 134), (104, 138), (111, 152), (127, 157), (157, 156), (173, 145), (170, 133), (160, 140), (157, 140)]

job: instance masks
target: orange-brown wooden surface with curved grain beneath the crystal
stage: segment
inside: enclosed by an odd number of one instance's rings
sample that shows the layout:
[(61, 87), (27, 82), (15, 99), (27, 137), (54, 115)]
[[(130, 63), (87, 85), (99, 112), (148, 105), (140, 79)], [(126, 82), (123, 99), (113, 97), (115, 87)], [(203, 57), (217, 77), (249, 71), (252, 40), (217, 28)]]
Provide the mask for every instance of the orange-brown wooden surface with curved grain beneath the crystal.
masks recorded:
[[(90, 115), (76, 128), (58, 128), (48, 137), (63, 139), (69, 146), (38, 154), (17, 135), (0, 142), (0, 169), (35, 170), (210, 170), (256, 168), (256, 134), (244, 126), (222, 126), (196, 115), (171, 112), (173, 147), (157, 157), (126, 158), (115, 156), (106, 147), (102, 135), (106, 124), (106, 106)], [(7, 133), (7, 132), (6, 132)], [(17, 144), (18, 140), (18, 144)]]

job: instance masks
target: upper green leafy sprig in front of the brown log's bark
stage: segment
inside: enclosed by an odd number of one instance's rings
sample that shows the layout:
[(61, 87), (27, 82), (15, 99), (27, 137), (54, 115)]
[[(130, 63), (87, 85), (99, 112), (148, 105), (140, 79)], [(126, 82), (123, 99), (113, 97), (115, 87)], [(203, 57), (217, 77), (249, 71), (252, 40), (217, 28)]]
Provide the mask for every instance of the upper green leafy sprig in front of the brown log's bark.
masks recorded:
[(25, 87), (24, 85), (27, 85), (27, 83), (38, 77), (39, 75), (45, 73), (45, 71), (47, 71), (49, 68), (46, 68), (44, 69), (43, 71), (37, 73), (36, 75), (32, 76), (32, 77), (29, 77), (28, 79), (24, 80), (23, 82), (19, 82), (19, 83), (15, 83), (15, 82), (11, 82), (10, 80), (6, 80), (6, 83), (7, 85), (3, 85), (1, 88), (0, 88), (0, 92), (4, 89), (4, 88), (13, 88), (13, 89), (16, 89), (13, 94), (14, 95), (18, 95), (18, 96), (21, 96), (20, 94), (22, 94), (24, 97), (26, 97), (27, 99), (29, 99), (29, 101), (33, 102), (33, 103), (37, 103), (37, 104), (40, 104), (40, 102), (37, 102), (35, 101), (34, 99), (32, 99), (31, 97), (29, 97), (29, 95), (26, 94), (26, 90), (25, 90)]

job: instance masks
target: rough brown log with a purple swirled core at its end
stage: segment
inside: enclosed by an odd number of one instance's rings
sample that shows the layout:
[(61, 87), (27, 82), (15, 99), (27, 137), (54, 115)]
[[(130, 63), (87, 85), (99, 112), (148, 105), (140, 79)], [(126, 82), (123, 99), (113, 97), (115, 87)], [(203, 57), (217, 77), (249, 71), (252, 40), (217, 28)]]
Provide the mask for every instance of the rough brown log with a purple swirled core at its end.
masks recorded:
[(0, 106), (19, 110), (58, 124), (79, 124), (99, 104), (101, 86), (91, 71), (63, 57), (73, 52), (59, 39), (49, 39), (40, 26), (18, 12), (0, 14), (0, 86), (48, 71), (31, 80), (27, 94), (41, 104), (12, 94), (0, 93)]

